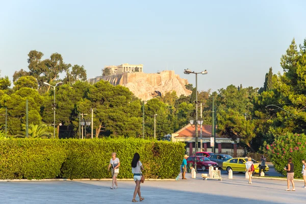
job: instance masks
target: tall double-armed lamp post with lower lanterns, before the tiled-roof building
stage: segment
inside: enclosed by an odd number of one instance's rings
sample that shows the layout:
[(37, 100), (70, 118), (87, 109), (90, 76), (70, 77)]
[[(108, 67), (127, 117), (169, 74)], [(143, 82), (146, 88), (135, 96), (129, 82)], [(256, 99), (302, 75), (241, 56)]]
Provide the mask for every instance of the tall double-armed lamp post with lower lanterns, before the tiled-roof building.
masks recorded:
[[(197, 148), (198, 148), (198, 131), (197, 131), (197, 128), (198, 128), (198, 124), (202, 124), (203, 123), (203, 120), (199, 120), (198, 121), (198, 111), (197, 111), (197, 104), (198, 104), (198, 101), (197, 101), (197, 74), (200, 73), (200, 74), (207, 74), (207, 70), (205, 71), (201, 71), (201, 72), (194, 72), (194, 71), (191, 71), (190, 69), (185, 69), (184, 70), (184, 73), (185, 74), (190, 74), (190, 73), (194, 73), (195, 74), (195, 120), (190, 120), (190, 124), (195, 126), (195, 151), (194, 151), (194, 163), (195, 163), (195, 170), (197, 170), (196, 168), (196, 152), (197, 152)], [(195, 121), (195, 123), (194, 123)], [(199, 122), (199, 123), (198, 123)], [(200, 123), (201, 122), (201, 123)]]

